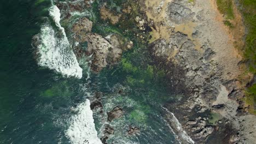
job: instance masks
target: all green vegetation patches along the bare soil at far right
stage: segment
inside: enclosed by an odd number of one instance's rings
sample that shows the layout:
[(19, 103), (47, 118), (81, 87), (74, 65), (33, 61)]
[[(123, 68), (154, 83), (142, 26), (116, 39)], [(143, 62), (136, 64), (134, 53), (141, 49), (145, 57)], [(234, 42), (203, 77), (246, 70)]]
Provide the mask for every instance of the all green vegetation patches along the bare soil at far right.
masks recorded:
[[(248, 65), (248, 71), (256, 74), (256, 0), (238, 1), (243, 23), (246, 27), (245, 46), (242, 48), (243, 57)], [(220, 13), (224, 15), (224, 25), (234, 28), (230, 20), (234, 19), (234, 3), (232, 0), (217, 0), (217, 7)], [(245, 103), (249, 106), (249, 112), (256, 115), (256, 84), (246, 89)]]

